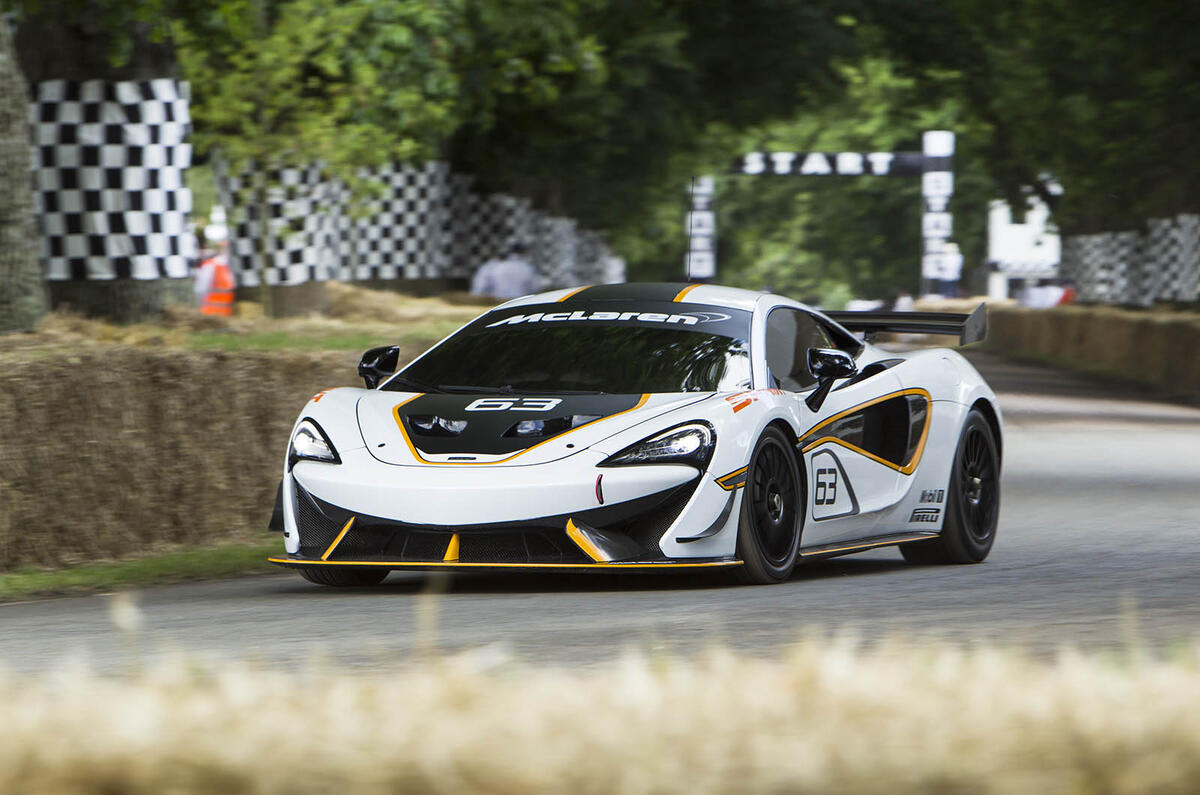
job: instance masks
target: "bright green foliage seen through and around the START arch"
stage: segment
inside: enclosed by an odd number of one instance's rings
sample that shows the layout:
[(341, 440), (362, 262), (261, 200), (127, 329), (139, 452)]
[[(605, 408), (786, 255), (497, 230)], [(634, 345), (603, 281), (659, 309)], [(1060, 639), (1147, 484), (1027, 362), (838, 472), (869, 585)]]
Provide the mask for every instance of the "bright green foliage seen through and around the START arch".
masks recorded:
[[(920, 151), (924, 131), (954, 130), (954, 237), (967, 263), (982, 262), (991, 181), (972, 149), (973, 122), (961, 103), (896, 73), (877, 55), (844, 65), (841, 76), (846, 89), (836, 101), (731, 136), (727, 149)], [(851, 297), (889, 299), (919, 287), (919, 179), (731, 175), (720, 180), (718, 210), (719, 262), (733, 271), (727, 281), (830, 307)]]

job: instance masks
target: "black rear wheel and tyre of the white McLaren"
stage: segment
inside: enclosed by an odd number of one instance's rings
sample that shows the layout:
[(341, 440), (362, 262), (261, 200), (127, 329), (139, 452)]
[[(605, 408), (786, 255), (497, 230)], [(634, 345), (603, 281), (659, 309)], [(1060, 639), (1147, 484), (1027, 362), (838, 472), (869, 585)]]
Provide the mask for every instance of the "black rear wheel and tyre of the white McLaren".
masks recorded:
[(980, 563), (996, 540), (1000, 454), (991, 426), (976, 410), (962, 424), (948, 492), (941, 536), (900, 544), (910, 563)]

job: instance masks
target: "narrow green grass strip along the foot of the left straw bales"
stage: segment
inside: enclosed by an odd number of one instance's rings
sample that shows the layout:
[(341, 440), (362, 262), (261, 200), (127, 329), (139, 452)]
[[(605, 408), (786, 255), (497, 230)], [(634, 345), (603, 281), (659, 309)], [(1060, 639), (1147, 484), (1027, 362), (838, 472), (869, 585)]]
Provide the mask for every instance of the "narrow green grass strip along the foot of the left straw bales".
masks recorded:
[(18, 569), (0, 574), (0, 600), (265, 572), (271, 568), (266, 557), (277, 555), (280, 549), (278, 540), (270, 544), (224, 544), (56, 570)]

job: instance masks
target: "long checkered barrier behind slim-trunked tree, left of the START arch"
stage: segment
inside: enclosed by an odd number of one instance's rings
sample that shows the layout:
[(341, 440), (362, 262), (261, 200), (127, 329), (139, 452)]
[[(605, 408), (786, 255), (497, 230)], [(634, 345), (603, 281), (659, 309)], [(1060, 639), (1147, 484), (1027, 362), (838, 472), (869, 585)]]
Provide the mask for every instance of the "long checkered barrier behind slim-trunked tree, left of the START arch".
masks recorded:
[[(360, 178), (370, 197), (353, 203), (349, 189), (319, 166), (268, 174), (269, 285), (469, 277), (514, 243), (547, 286), (610, 281), (624, 274), (602, 239), (574, 221), (536, 211), (528, 199), (482, 195), (445, 163), (384, 166)], [(217, 165), (221, 202), (230, 208), (230, 251), (240, 285), (258, 285), (263, 252), (253, 172)]]

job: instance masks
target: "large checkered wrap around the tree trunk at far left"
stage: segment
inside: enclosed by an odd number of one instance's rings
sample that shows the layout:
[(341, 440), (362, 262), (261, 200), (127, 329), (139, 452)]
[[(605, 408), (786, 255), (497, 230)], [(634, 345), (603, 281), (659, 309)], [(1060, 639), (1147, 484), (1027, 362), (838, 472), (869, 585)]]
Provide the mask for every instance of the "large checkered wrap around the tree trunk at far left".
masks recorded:
[(48, 280), (188, 275), (186, 83), (47, 80), (34, 89), (30, 122)]

